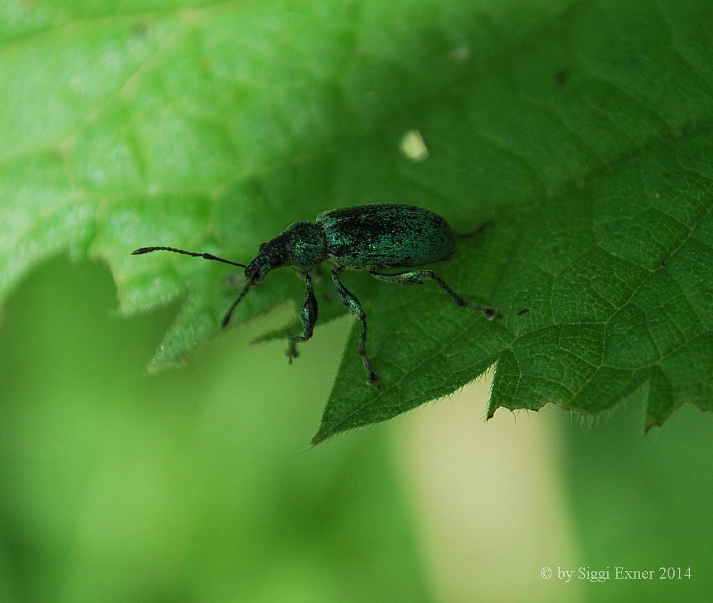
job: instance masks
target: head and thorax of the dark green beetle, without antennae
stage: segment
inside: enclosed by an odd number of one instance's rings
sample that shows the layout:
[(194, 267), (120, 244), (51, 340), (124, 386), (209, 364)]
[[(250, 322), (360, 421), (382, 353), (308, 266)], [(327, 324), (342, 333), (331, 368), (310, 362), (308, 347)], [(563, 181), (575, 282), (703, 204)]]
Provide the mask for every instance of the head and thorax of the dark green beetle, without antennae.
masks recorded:
[(274, 239), (260, 245), (260, 253), (247, 264), (245, 276), (259, 282), (273, 268), (292, 266), (309, 272), (327, 256), (324, 229), (314, 222), (296, 222)]

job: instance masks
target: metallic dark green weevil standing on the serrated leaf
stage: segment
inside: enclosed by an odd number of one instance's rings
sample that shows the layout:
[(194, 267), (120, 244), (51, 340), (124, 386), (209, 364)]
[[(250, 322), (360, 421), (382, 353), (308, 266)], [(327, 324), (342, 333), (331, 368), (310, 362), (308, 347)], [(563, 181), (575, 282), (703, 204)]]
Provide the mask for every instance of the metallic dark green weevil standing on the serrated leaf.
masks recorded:
[[(486, 222), (472, 233), (461, 237), (482, 232), (490, 224)], [(209, 253), (188, 252), (175, 247), (140, 247), (132, 254), (155, 251), (202, 257), (245, 268), (247, 283), (222, 319), (223, 328), (227, 326), (235, 307), (240, 304), (250, 287), (262, 281), (270, 270), (292, 266), (299, 277), (304, 279), (306, 292), (300, 312), (302, 335), (288, 334), (289, 346), (286, 355), (290, 364), (292, 359), (299, 355), (297, 344), (312, 337), (317, 321), (317, 299), (314, 297), (309, 272), (318, 264), (329, 262), (332, 264), (332, 280), (339, 297), (347, 309), (361, 321), (359, 355), (366, 369), (366, 383), (369, 384), (377, 384), (379, 376), (374, 372), (371, 360), (366, 354), (366, 314), (359, 299), (339, 280), (342, 270), (366, 270), (376, 279), (401, 285), (422, 284), (427, 280), (434, 280), (458, 306), (468, 306), (481, 311), (488, 320), (500, 317), (495, 308), (480, 306), (463, 299), (435, 272), (413, 269), (423, 264), (449, 259), (456, 252), (456, 233), (448, 222), (434, 212), (414, 205), (379, 203), (322, 212), (315, 222), (295, 222), (271, 241), (262, 243), (255, 259), (247, 265)], [(409, 270), (396, 274), (380, 272), (384, 268)]]

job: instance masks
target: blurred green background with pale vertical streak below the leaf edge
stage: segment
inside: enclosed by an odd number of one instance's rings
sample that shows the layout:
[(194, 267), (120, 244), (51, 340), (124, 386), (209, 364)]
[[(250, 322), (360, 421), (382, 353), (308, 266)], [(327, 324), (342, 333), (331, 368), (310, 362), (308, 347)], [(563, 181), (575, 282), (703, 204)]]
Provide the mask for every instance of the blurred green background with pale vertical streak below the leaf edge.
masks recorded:
[[(711, 592), (711, 417), (555, 408), (483, 423), (481, 381), (307, 449), (349, 319), (293, 366), (287, 309), (145, 366), (179, 304), (113, 313), (108, 269), (43, 264), (4, 307), (2, 602), (695, 601)], [(513, 420), (513, 416), (515, 420)], [(598, 584), (543, 567), (691, 567)]]

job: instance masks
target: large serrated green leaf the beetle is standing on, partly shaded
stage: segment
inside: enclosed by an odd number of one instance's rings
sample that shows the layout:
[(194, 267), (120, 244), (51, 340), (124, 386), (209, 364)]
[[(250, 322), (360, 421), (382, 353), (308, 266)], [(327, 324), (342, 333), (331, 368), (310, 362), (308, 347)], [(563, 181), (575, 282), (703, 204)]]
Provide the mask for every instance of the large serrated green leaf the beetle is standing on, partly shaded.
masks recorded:
[[(314, 442), (493, 365), (491, 415), (548, 402), (593, 414), (640, 388), (646, 426), (684, 402), (711, 408), (708, 0), (122, 10), (0, 8), (0, 294), (63, 250), (104, 259), (125, 313), (185, 296), (153, 359), (165, 366), (217, 334), (240, 277), (131, 250), (247, 262), (290, 222), (405, 202), (459, 232), (493, 220), (434, 269), (503, 318), (455, 306), (434, 283), (348, 274), (381, 388), (364, 384), (355, 324)], [(404, 145), (414, 133), (425, 152)], [(255, 287), (235, 322), (299, 307), (286, 274)], [(329, 279), (317, 295), (321, 320), (344, 313)]]

